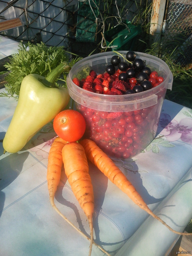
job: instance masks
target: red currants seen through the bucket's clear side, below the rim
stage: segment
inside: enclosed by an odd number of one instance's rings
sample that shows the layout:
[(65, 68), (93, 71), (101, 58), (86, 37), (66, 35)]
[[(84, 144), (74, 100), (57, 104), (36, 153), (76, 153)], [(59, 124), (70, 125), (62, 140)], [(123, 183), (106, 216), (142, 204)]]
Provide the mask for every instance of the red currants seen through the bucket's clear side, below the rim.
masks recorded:
[[(151, 142), (158, 123), (158, 104), (128, 112), (107, 112), (76, 105), (86, 121), (85, 138), (89, 138), (108, 155), (130, 158)], [(159, 112), (158, 112), (159, 111)]]

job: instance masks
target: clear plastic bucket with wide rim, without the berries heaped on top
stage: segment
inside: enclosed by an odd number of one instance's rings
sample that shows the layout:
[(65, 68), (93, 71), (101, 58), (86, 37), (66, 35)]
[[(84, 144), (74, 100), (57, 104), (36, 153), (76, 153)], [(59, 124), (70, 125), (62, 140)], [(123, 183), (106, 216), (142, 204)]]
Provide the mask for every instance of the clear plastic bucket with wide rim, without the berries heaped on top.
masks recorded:
[[(126, 55), (126, 52), (119, 51)], [(144, 150), (155, 138), (162, 104), (167, 89), (172, 89), (173, 76), (168, 65), (157, 57), (135, 52), (164, 81), (144, 92), (128, 95), (105, 95), (78, 87), (72, 79), (84, 68), (98, 74), (105, 72), (114, 52), (105, 52), (78, 61), (67, 77), (67, 87), (76, 109), (86, 121), (84, 138), (89, 138), (108, 155), (131, 158)], [(111, 113), (110, 119), (107, 118)]]

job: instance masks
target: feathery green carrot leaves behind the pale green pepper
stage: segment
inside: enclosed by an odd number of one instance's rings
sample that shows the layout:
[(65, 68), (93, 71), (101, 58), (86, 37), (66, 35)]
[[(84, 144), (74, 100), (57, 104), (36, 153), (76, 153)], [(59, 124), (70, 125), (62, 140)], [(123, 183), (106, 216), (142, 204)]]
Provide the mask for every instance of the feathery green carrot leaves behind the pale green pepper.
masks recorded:
[[(69, 65), (72, 67), (81, 57), (72, 59)], [(12, 54), (8, 63), (4, 65), (8, 73), (5, 77), (5, 92), (0, 97), (13, 97), (18, 99), (20, 85), (23, 78), (29, 74), (47, 76), (61, 62), (68, 61), (68, 53), (63, 46), (46, 46), (43, 42), (38, 44), (22, 44), (18, 46), (18, 52)], [(63, 81), (66, 81), (68, 73), (63, 73)]]

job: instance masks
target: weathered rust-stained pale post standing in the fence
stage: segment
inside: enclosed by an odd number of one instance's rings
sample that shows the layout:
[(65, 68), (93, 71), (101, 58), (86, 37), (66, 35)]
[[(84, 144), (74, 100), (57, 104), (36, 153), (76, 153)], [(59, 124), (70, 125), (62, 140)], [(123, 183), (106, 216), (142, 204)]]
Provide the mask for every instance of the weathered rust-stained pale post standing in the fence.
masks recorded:
[(161, 37), (165, 8), (166, 0), (153, 0), (150, 22), (150, 34), (152, 35), (152, 42), (158, 41)]

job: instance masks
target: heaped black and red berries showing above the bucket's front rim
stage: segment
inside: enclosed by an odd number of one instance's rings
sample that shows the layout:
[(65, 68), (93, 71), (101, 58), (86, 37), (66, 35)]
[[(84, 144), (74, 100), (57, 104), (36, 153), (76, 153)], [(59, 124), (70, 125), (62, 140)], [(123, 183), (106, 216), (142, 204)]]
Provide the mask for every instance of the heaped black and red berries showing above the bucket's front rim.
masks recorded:
[(79, 80), (75, 77), (72, 81), (84, 90), (108, 95), (143, 92), (163, 82), (163, 77), (145, 66), (134, 52), (127, 52), (124, 60), (114, 55), (104, 73), (97, 74), (91, 70), (86, 78)]

